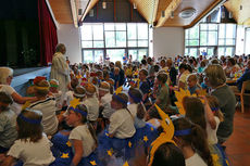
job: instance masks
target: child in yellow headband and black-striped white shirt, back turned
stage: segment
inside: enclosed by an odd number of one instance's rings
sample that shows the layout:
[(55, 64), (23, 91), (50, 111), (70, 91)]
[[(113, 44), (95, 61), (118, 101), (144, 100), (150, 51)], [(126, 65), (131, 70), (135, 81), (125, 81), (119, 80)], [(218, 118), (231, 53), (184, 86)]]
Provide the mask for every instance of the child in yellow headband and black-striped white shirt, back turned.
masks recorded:
[(32, 103), (28, 107), (39, 110), (42, 113), (43, 131), (48, 136), (52, 136), (58, 131), (59, 120), (55, 115), (58, 110), (53, 98), (49, 98), (49, 82), (45, 79), (35, 84), (35, 95), (38, 101)]

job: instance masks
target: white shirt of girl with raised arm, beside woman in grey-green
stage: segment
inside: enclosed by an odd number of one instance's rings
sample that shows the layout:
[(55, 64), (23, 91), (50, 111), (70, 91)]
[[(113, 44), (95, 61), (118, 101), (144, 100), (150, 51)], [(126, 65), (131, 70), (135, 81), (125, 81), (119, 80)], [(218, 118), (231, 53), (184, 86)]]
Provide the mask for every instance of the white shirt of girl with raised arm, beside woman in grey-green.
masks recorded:
[(216, 128), (215, 129), (212, 129), (210, 124), (207, 123), (207, 135), (208, 135), (209, 144), (216, 144), (217, 143), (216, 132), (217, 132), (217, 127), (218, 127), (218, 124), (220, 124), (220, 119), (218, 119), (217, 116), (214, 116), (214, 119), (216, 122)]

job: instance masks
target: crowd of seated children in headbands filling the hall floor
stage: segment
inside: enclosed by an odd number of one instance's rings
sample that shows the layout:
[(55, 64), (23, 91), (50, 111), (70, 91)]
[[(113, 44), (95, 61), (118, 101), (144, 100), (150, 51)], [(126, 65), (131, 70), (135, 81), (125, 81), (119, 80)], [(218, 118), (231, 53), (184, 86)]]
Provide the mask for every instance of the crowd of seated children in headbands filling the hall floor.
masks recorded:
[[(236, 73), (224, 59), (217, 62), (226, 74)], [(143, 58), (141, 64), (74, 64), (65, 93), (58, 80), (38, 76), (29, 98), (4, 90), (12, 89), (10, 82), (0, 80), (0, 165), (133, 166), (142, 158), (151, 166), (226, 166), (216, 136), (224, 113), (221, 101), (208, 94), (213, 89), (203, 75), (212, 63), (202, 56), (176, 56)], [(190, 93), (179, 101), (185, 115), (175, 105), (175, 92), (182, 90)], [(13, 101), (27, 102), (13, 112)], [(160, 138), (167, 133), (164, 123), (172, 120), (159, 110), (173, 120), (168, 142)], [(151, 162), (141, 157), (150, 158), (152, 150)]]

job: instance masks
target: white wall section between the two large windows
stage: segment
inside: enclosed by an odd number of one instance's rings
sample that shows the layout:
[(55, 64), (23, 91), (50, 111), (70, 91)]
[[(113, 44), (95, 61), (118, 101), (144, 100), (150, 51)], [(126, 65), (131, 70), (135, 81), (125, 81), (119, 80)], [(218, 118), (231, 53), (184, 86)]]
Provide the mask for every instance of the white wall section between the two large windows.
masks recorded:
[(183, 27), (160, 27), (153, 29), (153, 55), (171, 56), (184, 54), (185, 30)]

